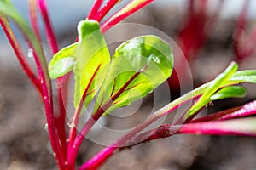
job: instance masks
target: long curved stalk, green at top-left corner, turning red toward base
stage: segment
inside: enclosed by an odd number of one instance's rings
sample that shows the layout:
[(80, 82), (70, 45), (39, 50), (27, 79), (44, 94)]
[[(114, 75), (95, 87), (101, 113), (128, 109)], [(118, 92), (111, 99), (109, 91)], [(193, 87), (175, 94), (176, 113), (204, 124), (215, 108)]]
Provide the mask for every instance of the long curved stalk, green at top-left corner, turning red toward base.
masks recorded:
[(47, 63), (44, 56), (44, 50), (41, 47), (40, 42), (32, 31), (31, 27), (28, 26), (26, 20), (24, 20), (14, 6), (11, 3), (6, 3), (0, 1), (0, 12), (2, 14), (7, 14), (12, 20), (15, 21), (15, 24), (20, 27), (23, 35), (26, 38), (26, 41), (29, 43), (29, 46), (33, 50), (33, 56), (37, 65), (38, 75), (40, 77), (40, 83), (43, 91), (44, 107), (46, 113), (46, 120), (48, 123), (49, 130), (49, 140), (52, 145), (52, 150), (55, 155), (55, 160), (60, 167), (63, 169), (64, 158), (61, 155), (61, 147), (59, 144), (59, 139), (57, 138), (54, 125), (54, 112), (53, 112), (53, 99), (52, 99), (52, 88), (49, 80), (49, 73), (47, 69)]

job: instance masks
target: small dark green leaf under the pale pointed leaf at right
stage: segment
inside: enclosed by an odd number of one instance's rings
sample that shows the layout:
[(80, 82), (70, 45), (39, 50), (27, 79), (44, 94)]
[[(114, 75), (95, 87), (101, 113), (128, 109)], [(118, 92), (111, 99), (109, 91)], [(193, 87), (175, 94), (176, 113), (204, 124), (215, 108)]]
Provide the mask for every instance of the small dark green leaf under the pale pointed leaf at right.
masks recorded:
[(218, 90), (213, 94), (210, 100), (227, 99), (227, 98), (242, 98), (247, 93), (247, 89), (242, 86), (230, 86)]

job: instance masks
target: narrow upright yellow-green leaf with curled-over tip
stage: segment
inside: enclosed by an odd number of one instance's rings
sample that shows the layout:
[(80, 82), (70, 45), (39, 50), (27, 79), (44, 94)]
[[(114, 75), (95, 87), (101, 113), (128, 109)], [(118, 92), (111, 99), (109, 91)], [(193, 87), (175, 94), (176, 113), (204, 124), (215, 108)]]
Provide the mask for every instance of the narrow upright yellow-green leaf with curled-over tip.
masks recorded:
[(81, 99), (88, 105), (108, 74), (110, 54), (96, 20), (82, 20), (78, 25), (79, 44), (74, 65), (74, 106)]

